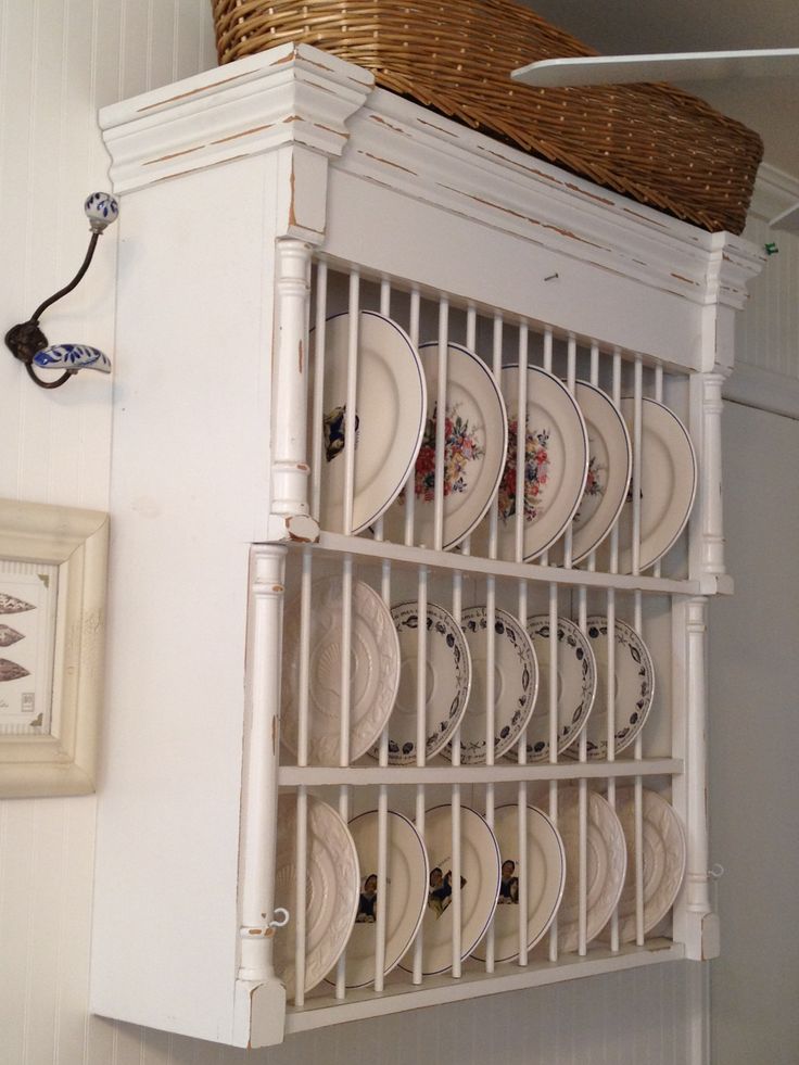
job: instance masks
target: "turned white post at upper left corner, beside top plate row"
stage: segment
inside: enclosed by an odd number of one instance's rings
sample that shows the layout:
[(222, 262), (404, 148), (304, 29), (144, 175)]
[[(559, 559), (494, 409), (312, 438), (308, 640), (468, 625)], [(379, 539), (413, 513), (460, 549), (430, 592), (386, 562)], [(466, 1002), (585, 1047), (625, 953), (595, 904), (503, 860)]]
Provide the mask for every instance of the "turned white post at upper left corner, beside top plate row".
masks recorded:
[(319, 527), (308, 509), (308, 314), (313, 245), (276, 241), (272, 363), (271, 508), (269, 540), (315, 543)]

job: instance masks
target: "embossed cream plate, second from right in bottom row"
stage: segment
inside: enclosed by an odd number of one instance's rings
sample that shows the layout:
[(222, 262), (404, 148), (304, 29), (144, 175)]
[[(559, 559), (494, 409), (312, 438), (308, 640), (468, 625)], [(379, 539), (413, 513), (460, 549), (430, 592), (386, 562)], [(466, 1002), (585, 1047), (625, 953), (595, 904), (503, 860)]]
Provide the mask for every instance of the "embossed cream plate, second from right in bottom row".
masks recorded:
[[(566, 849), (566, 889), (558, 910), (558, 950), (575, 951), (580, 931), (580, 789), (558, 791), (558, 832)], [(588, 791), (586, 847), (586, 933), (591, 942), (603, 930), (624, 886), (627, 850), (621, 822), (596, 791)]]

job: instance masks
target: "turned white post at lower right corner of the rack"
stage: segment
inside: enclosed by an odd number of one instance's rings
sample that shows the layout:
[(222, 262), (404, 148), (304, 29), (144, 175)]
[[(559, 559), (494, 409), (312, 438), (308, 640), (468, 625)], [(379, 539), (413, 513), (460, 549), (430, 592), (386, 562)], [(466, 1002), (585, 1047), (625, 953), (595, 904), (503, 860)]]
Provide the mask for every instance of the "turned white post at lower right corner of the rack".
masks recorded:
[(678, 597), (672, 611), (674, 756), (684, 772), (674, 778), (673, 803), (686, 831), (685, 884), (674, 914), (674, 938), (686, 958), (719, 954), (719, 921), (710, 902), (708, 847), (707, 658), (708, 598)]

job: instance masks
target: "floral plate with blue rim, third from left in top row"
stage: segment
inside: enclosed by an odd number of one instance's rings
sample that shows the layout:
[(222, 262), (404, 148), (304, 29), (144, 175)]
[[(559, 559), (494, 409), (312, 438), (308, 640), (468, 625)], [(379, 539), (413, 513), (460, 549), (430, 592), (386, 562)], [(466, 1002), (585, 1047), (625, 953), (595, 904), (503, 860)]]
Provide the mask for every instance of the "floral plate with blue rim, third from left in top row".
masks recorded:
[[(519, 424), (519, 367), (503, 369), (508, 408), (508, 457), (497, 492), (497, 557), (516, 559), (516, 478)], [(529, 561), (563, 534), (583, 497), (588, 470), (588, 436), (574, 397), (558, 378), (528, 367), (527, 461), (522, 558)], [(489, 522), (472, 542), (487, 555)]]

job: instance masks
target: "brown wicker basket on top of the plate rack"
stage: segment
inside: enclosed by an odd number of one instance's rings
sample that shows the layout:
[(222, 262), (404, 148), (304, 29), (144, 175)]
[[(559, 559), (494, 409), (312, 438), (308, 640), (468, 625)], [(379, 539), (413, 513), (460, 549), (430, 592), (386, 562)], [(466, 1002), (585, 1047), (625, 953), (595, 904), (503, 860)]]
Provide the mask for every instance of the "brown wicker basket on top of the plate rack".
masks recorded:
[(509, 73), (592, 55), (512, 0), (212, 0), (220, 63), (288, 41), (377, 84), (711, 231), (739, 233), (757, 134), (667, 85), (534, 89)]

